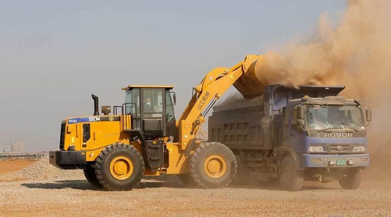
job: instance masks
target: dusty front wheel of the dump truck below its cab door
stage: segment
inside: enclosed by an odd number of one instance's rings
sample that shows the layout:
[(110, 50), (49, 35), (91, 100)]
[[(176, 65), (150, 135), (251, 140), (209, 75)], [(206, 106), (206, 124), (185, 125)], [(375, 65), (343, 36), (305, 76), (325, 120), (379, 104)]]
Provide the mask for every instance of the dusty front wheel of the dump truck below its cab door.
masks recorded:
[(304, 173), (296, 169), (296, 163), (292, 156), (282, 159), (280, 171), (280, 184), (287, 191), (299, 191), (304, 182)]

